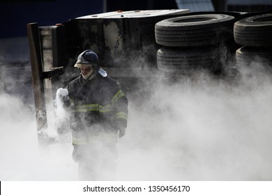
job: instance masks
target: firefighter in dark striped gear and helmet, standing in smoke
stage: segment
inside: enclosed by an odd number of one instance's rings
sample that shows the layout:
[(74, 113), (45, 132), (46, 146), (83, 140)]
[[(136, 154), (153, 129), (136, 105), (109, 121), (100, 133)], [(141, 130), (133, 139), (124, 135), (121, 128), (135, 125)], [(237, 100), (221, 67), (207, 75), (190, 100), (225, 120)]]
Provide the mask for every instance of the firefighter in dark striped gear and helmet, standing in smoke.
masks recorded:
[(100, 68), (93, 51), (82, 52), (74, 66), (81, 74), (67, 90), (73, 111), (73, 159), (79, 164), (80, 180), (114, 180), (116, 141), (126, 132), (128, 99)]

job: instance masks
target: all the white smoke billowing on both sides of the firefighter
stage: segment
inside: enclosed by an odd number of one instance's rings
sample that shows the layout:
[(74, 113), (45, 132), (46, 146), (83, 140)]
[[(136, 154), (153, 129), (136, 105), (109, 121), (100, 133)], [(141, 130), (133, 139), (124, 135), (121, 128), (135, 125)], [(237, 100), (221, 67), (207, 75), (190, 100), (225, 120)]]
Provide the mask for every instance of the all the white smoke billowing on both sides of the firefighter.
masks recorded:
[[(142, 86), (143, 97), (128, 93), (116, 179), (271, 180), (271, 71), (240, 72), (237, 84), (198, 75), (157, 79)], [(4, 93), (0, 100), (0, 179), (78, 180), (71, 143), (40, 149), (33, 108)]]

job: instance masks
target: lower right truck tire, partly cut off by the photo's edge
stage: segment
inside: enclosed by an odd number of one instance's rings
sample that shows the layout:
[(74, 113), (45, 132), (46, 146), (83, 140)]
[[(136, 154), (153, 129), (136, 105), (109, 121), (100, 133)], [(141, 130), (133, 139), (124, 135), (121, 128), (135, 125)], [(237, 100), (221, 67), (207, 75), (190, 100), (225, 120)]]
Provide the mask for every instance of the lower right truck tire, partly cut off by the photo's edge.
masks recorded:
[(243, 46), (236, 50), (236, 64), (250, 65), (250, 63), (266, 63), (272, 65), (271, 47)]

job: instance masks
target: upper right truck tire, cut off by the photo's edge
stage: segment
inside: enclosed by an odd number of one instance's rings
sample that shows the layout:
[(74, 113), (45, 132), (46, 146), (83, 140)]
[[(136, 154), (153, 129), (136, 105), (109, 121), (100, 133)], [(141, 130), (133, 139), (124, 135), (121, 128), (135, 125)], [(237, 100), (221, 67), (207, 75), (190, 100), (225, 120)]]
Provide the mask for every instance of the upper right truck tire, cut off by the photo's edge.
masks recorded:
[(272, 13), (235, 22), (234, 40), (239, 45), (250, 47), (272, 46)]

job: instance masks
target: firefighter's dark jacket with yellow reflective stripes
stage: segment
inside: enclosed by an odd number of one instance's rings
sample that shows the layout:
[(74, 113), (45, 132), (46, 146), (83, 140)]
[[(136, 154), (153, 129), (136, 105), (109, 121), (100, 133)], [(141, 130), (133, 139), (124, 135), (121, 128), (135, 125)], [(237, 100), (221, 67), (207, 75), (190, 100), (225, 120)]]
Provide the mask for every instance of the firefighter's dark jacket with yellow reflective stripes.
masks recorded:
[(85, 80), (80, 76), (71, 81), (67, 89), (73, 105), (70, 120), (73, 145), (91, 143), (101, 136), (116, 139), (117, 130), (126, 128), (128, 99), (110, 77), (97, 74)]

